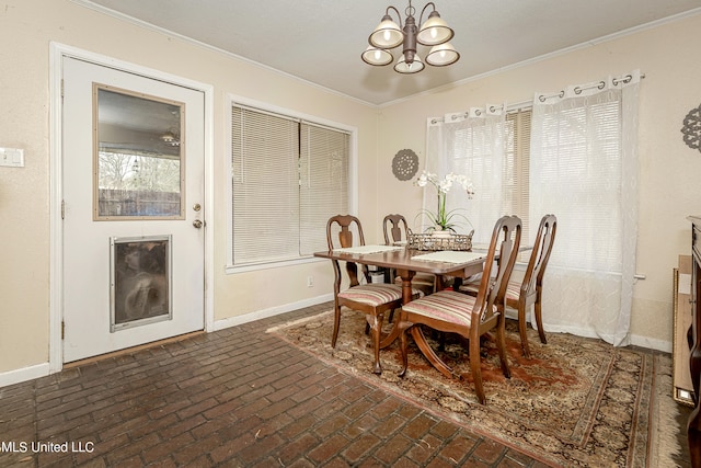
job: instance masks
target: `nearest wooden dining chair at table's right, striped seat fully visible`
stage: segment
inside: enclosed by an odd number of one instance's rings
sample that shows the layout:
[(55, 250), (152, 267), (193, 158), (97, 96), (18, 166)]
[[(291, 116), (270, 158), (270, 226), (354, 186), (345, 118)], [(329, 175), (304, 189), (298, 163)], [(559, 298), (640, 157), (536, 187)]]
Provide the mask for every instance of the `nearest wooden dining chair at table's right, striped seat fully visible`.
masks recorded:
[[(412, 300), (402, 307), (398, 324), (403, 365), (401, 377), (406, 374), (409, 362), (407, 330), (412, 327), (427, 326), (440, 332), (457, 333), (469, 340), (470, 369), (480, 403), (485, 404), (486, 402), (480, 356), (480, 338), (483, 334), (495, 331), (502, 372), (507, 378), (510, 378), (506, 357), (504, 297), (506, 285), (518, 256), (520, 238), (521, 220), (517, 216), (504, 216), (496, 221), (476, 296), (455, 290), (439, 290), (430, 296)], [(495, 262), (497, 253), (499, 261)], [(495, 275), (492, 275), (493, 269), (496, 269)], [(452, 370), (445, 364), (441, 367), (436, 366), (447, 377), (451, 377)]]

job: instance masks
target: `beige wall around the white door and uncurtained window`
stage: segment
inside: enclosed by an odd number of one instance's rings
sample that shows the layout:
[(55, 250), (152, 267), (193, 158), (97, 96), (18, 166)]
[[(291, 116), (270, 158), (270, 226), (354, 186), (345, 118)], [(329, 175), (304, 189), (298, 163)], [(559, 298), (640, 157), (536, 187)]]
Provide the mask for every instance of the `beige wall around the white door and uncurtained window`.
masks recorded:
[[(0, 10), (0, 147), (23, 148), (25, 167), (0, 168), (0, 377), (49, 358), (49, 44), (148, 67), (214, 87), (214, 316), (318, 300), (331, 292), (327, 262), (226, 274), (227, 95), (357, 128), (360, 215), (377, 198), (377, 117), (356, 100), (248, 61), (148, 31), (67, 0), (11, 0)], [(209, 259), (208, 259), (209, 260)], [(314, 286), (307, 287), (307, 276)]]

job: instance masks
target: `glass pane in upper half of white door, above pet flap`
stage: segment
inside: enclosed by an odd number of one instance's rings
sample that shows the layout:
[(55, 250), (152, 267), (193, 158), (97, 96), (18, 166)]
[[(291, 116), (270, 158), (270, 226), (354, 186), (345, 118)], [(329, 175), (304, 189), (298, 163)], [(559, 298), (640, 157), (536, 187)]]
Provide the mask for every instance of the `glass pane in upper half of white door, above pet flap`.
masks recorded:
[(94, 218), (183, 218), (184, 104), (100, 84), (94, 102)]

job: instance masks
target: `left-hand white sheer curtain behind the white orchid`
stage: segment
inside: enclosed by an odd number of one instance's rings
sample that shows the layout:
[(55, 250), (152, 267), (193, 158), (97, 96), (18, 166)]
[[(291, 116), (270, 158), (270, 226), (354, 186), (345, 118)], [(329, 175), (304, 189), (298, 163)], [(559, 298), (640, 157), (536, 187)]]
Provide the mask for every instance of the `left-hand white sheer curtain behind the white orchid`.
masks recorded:
[[(469, 199), (459, 189), (448, 192), (447, 209), (457, 209), (469, 222), (457, 219), (459, 233), (474, 229), (473, 242), (487, 243), (494, 224), (503, 215), (502, 170), (505, 151), (506, 104), (472, 107), (468, 112), (428, 119), (426, 170), (444, 178), (467, 175), (475, 194)], [(424, 191), (424, 209), (436, 209), (436, 194)]]

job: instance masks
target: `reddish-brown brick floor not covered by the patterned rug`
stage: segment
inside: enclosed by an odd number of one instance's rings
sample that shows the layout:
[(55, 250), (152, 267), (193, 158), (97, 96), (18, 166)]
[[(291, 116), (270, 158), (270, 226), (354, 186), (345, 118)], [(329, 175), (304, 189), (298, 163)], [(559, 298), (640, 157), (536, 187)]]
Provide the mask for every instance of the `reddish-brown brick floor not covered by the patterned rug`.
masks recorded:
[(0, 388), (0, 466), (543, 466), (265, 333), (329, 308)]

